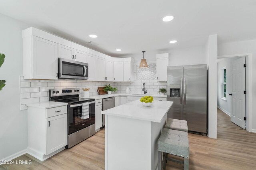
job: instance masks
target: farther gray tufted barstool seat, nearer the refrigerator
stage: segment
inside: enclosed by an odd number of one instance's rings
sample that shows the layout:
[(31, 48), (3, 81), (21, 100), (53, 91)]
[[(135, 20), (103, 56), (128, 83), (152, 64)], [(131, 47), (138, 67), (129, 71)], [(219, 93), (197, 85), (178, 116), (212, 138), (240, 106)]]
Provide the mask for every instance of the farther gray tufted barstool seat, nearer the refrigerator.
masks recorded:
[(180, 130), (184, 132), (188, 132), (188, 124), (187, 121), (178, 120), (178, 119), (168, 119), (164, 128), (169, 128), (173, 130)]

